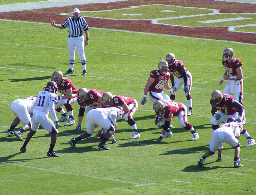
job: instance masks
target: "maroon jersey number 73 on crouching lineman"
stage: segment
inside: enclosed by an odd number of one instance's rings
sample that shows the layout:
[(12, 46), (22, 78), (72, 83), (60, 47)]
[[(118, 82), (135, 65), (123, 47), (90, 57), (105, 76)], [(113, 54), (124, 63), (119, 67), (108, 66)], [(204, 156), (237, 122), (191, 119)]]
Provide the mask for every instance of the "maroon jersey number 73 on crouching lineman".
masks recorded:
[(100, 104), (100, 102), (98, 102), (99, 97), (102, 96), (104, 93), (105, 93), (104, 91), (95, 90), (95, 89), (88, 90), (89, 100), (81, 100), (80, 97), (77, 97), (77, 103), (80, 106), (88, 105), (91, 107), (96, 107), (97, 105)]

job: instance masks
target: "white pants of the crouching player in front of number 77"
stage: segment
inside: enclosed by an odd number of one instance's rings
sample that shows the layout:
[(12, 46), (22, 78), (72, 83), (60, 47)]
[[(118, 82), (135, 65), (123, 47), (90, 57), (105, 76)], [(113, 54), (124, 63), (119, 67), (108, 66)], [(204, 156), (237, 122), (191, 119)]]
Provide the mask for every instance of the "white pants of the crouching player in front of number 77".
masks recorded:
[(236, 147), (239, 144), (239, 141), (232, 131), (225, 131), (224, 128), (219, 128), (213, 133), (209, 150), (215, 152), (218, 148), (221, 149), (223, 147), (223, 142), (232, 147)]

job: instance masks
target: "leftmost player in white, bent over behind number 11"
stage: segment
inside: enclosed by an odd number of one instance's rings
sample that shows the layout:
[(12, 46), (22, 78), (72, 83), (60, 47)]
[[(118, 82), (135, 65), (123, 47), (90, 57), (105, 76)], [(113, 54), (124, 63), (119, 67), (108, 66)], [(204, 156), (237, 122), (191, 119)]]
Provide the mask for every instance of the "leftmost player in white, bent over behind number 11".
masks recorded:
[[(6, 133), (7, 136), (16, 135), (19, 140), (23, 140), (21, 133), (31, 129), (31, 115), (34, 113), (36, 99), (36, 97), (30, 96), (27, 99), (17, 99), (11, 103), (11, 111), (16, 117), (13, 119), (10, 129)], [(23, 123), (23, 127), (13, 133), (14, 128), (20, 121)]]

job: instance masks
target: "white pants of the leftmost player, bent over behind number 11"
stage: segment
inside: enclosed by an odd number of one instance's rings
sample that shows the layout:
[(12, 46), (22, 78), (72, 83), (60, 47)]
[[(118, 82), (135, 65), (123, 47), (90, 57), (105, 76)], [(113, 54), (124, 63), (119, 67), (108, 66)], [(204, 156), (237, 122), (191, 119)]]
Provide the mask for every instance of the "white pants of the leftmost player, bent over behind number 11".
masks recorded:
[(22, 102), (15, 100), (11, 103), (11, 111), (12, 113), (18, 117), (23, 125), (31, 124), (31, 117), (27, 110), (27, 106)]

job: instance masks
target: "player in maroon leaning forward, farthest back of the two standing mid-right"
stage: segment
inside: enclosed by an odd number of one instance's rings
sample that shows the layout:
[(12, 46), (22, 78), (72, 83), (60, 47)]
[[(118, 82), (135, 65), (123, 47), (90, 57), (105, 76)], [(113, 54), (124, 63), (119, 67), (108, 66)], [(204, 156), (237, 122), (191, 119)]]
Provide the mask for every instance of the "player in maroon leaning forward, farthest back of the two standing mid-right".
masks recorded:
[[(192, 111), (192, 97), (190, 95), (191, 86), (192, 86), (192, 75), (187, 69), (184, 67), (183, 62), (176, 60), (175, 55), (173, 53), (168, 53), (166, 55), (166, 61), (169, 64), (169, 72), (170, 72), (170, 81), (171, 81), (171, 96), (170, 99), (172, 101), (175, 100), (175, 94), (184, 85), (184, 94), (187, 98), (188, 111), (187, 115), (190, 116), (193, 114)], [(174, 76), (176, 77), (174, 81)]]

